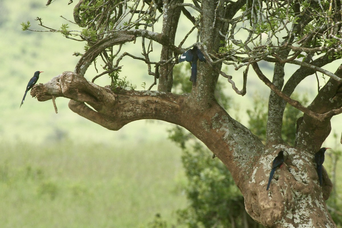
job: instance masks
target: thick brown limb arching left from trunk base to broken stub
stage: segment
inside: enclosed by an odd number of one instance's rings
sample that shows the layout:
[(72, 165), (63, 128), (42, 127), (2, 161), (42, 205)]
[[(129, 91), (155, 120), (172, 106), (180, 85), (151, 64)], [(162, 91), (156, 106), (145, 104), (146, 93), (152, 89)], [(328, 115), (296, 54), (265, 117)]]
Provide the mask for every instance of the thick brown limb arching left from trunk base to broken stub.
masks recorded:
[[(215, 100), (208, 100), (210, 104), (203, 107), (189, 95), (119, 88), (113, 92), (108, 86), (103, 88), (70, 71), (35, 86), (31, 94), (40, 101), (51, 99), (51, 95), (70, 98), (71, 110), (110, 130), (141, 119), (183, 126), (222, 160), (243, 193), (248, 191), (250, 182), (246, 176), (252, 175), (252, 167), (264, 150), (260, 140)], [(244, 172), (240, 172), (241, 167)]]

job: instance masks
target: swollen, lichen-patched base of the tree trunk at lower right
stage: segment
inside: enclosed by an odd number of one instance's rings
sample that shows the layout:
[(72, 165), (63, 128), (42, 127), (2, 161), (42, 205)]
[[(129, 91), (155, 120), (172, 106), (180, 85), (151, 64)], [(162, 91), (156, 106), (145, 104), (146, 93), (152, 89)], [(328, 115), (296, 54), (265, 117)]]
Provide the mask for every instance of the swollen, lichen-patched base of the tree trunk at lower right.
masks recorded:
[[(271, 162), (280, 150), (286, 151), (284, 165), (266, 191)], [(245, 195), (248, 213), (266, 227), (336, 227), (324, 203), (332, 183), (327, 179), (323, 188), (319, 186), (313, 155), (286, 145), (274, 146), (269, 152), (254, 167)], [(326, 172), (324, 176), (327, 178)]]

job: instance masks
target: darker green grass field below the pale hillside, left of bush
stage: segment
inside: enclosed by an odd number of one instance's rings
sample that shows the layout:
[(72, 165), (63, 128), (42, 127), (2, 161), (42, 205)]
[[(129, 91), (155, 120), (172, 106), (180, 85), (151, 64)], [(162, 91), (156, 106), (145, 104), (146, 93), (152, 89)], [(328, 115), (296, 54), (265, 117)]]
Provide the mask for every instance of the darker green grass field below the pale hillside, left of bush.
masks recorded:
[(0, 150), (1, 228), (143, 227), (156, 213), (175, 221), (186, 205), (180, 150), (168, 141)]

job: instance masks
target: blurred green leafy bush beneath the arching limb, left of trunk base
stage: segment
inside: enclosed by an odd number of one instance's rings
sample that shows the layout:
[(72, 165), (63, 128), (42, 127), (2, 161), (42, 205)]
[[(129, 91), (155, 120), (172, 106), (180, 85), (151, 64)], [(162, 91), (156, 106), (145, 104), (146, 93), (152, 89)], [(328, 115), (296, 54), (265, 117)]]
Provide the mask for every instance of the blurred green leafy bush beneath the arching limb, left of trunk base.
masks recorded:
[(212, 159), (201, 143), (183, 150), (182, 162), (188, 178), (190, 206), (179, 210), (178, 222), (197, 227), (262, 227), (245, 211), (244, 198), (225, 165)]

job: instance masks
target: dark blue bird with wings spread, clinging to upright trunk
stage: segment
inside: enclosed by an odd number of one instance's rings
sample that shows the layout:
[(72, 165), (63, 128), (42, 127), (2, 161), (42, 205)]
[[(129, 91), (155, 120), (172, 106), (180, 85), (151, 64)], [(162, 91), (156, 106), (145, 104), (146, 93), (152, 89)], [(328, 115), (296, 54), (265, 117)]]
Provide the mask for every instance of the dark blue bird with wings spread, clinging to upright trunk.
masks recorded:
[(197, 48), (197, 46), (194, 46), (192, 49), (189, 49), (186, 52), (184, 52), (178, 59), (179, 62), (192, 62), (190, 81), (193, 82), (193, 85), (196, 85), (197, 81), (197, 60), (201, 62), (206, 61), (203, 53), (201, 52), (201, 50)]

